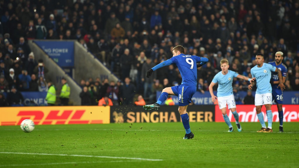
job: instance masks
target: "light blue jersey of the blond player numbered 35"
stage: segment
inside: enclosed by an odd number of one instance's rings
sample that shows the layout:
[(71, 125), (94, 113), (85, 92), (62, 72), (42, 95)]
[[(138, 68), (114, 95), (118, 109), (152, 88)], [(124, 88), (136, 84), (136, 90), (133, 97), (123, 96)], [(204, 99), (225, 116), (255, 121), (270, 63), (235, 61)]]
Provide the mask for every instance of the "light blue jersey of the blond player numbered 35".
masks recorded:
[(212, 82), (218, 83), (217, 97), (224, 97), (234, 94), (233, 93), (233, 79), (239, 74), (235, 71), (228, 70), (227, 74), (222, 74), (222, 71), (218, 72)]

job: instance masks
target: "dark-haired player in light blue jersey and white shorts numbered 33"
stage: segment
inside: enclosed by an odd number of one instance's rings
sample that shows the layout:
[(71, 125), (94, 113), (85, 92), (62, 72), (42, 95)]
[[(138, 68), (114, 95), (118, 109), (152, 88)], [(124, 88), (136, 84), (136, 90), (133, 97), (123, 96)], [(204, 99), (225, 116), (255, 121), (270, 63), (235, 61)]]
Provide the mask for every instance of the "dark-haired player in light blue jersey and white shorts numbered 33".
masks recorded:
[[(258, 130), (257, 132), (273, 132), (272, 130), (272, 111), (271, 111), (271, 105), (272, 105), (272, 87), (270, 84), (271, 79), (271, 71), (277, 72), (278, 78), (279, 78), (279, 84), (281, 91), (285, 88), (282, 82), (282, 75), (281, 71), (274, 67), (273, 65), (267, 64), (264, 62), (264, 55), (263, 54), (257, 54), (255, 56), (255, 62), (257, 65), (255, 65), (253, 68), (251, 68), (251, 75), (252, 77), (255, 77), (256, 84), (257, 84), (257, 91), (255, 92), (255, 99), (254, 99), (254, 105), (257, 112), (257, 117), (262, 125), (262, 128)], [(277, 86), (277, 87), (278, 87)], [(249, 89), (252, 89), (252, 83), (248, 85)], [(266, 127), (264, 116), (262, 111), (262, 106), (265, 105), (266, 107), (266, 113), (267, 113), (267, 119), (268, 119), (268, 128)]]

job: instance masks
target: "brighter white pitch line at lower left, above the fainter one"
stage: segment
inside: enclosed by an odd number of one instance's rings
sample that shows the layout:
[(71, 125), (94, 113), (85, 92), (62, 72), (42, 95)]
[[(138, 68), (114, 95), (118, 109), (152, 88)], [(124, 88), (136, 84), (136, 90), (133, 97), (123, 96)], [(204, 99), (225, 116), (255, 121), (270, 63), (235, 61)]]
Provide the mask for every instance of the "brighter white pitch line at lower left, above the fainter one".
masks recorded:
[(67, 155), (67, 154), (51, 154), (51, 153), (22, 153), (22, 152), (0, 152), (0, 153), (5, 153), (5, 154), (22, 154), (22, 155), (75, 156), (75, 157), (89, 157), (89, 158), (110, 158), (110, 159), (132, 159), (132, 160), (142, 160), (142, 161), (163, 161), (162, 159), (126, 158), (126, 157), (93, 156), (93, 155)]

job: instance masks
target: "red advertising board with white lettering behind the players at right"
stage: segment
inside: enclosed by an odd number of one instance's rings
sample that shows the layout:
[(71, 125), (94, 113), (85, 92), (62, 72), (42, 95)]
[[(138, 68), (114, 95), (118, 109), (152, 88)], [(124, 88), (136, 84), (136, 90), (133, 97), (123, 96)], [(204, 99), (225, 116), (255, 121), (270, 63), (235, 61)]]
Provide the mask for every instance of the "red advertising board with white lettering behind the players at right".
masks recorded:
[[(298, 105), (283, 105), (282, 108), (283, 108), (283, 122), (299, 121)], [(273, 113), (273, 122), (279, 122), (277, 106), (272, 105), (271, 110)], [(232, 122), (235, 121), (235, 118), (231, 113), (231, 111), (227, 109), (226, 112), (229, 119)], [(237, 105), (237, 112), (239, 114), (240, 122), (259, 122), (254, 105)], [(262, 113), (264, 115), (264, 120), (267, 121), (265, 106), (262, 107)], [(215, 121), (224, 122), (219, 106), (215, 106)]]

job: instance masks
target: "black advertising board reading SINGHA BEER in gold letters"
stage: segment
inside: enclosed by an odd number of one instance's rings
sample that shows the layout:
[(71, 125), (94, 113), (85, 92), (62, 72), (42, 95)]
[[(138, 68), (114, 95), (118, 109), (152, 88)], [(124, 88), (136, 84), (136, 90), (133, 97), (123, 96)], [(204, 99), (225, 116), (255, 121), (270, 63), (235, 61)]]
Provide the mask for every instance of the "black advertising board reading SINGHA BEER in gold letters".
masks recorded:
[[(162, 123), (180, 122), (179, 106), (161, 106), (159, 110), (146, 111), (142, 106), (111, 106), (110, 123)], [(215, 121), (215, 106), (188, 106), (190, 122)]]

